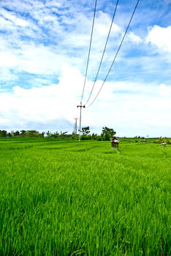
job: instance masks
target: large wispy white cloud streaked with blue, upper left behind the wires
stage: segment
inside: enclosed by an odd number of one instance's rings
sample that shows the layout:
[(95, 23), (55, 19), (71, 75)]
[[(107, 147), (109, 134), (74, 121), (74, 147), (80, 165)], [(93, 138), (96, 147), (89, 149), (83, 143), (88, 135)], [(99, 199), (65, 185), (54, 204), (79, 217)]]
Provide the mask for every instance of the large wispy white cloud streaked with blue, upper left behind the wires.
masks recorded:
[[(0, 45), (0, 65), (15, 70), (15, 74), (24, 71), (37, 75), (50, 75), (59, 74), (61, 64), (68, 62), (75, 67), (80, 67), (80, 70), (84, 72), (82, 67), (87, 59), (92, 23), (88, 15), (76, 10), (72, 13), (72, 16), (74, 15), (72, 17), (67, 12), (63, 12), (59, 20), (58, 16), (47, 7), (49, 4), (55, 4), (54, 2), (47, 1), (44, 5), (39, 1), (31, 1), (27, 3), (28, 7), (26, 2), (18, 1), (17, 3), (20, 8), (23, 8), (23, 12), (28, 10), (30, 16), (24, 18), (20, 13), (9, 12), (1, 8), (1, 14), (4, 18), (0, 17), (0, 26), (2, 29), (5, 27), (9, 34), (0, 35), (1, 42), (5, 42), (3, 48)], [(14, 2), (12, 4), (14, 5)], [(63, 7), (65, 4), (64, 2)], [(55, 4), (57, 8), (60, 5)], [(70, 12), (71, 10), (69, 10)], [(36, 19), (37, 22), (34, 22), (32, 18)], [(109, 15), (98, 12), (94, 27), (89, 72), (96, 67), (96, 59), (101, 57), (110, 22)], [(65, 30), (66, 27), (68, 28), (67, 31)], [(47, 29), (48, 35), (44, 33), (42, 28)], [(112, 46), (117, 45), (117, 37), (120, 34), (121, 28), (113, 24), (110, 38)], [(49, 41), (50, 38), (53, 38), (55, 44), (50, 45), (48, 42), (47, 45), (44, 45), (43, 42)], [(107, 53), (104, 58), (107, 61), (111, 55)]]

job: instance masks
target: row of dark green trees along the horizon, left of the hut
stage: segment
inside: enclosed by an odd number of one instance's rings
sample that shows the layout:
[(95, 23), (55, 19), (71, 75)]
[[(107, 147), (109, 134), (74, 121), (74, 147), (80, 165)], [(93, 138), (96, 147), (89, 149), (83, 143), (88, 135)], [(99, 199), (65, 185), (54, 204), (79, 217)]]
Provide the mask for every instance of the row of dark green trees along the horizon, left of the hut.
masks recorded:
[[(110, 140), (115, 135), (115, 131), (113, 128), (102, 127), (101, 135), (97, 135), (96, 133), (92, 133), (90, 131), (90, 127), (83, 127), (80, 132), (81, 140)], [(68, 134), (68, 132), (38, 132), (37, 130), (17, 130), (7, 132), (6, 130), (0, 130), (0, 137), (23, 137), (23, 138), (72, 138), (78, 139), (78, 135), (75, 132), (72, 134)]]

